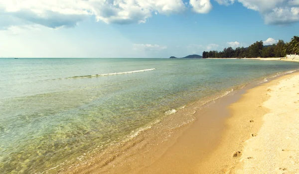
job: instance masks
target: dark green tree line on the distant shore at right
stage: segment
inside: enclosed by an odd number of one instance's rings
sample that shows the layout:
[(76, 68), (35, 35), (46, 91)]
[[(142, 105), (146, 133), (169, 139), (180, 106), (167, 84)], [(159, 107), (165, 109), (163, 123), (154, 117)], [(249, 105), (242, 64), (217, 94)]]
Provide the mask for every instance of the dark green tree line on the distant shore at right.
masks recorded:
[(287, 54), (299, 54), (299, 37), (294, 36), (291, 42), (279, 40), (276, 44), (264, 46), (263, 41), (257, 41), (248, 48), (232, 47), (223, 51), (204, 51), (202, 58), (255, 58), (255, 57), (286, 57)]

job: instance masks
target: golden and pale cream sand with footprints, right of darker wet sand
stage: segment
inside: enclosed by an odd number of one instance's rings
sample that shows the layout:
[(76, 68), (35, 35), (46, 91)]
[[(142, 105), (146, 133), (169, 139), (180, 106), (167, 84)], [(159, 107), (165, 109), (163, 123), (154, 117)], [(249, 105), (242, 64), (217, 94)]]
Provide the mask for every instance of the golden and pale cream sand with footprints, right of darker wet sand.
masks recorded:
[(247, 90), (229, 106), (220, 145), (199, 173), (299, 172), (299, 73)]

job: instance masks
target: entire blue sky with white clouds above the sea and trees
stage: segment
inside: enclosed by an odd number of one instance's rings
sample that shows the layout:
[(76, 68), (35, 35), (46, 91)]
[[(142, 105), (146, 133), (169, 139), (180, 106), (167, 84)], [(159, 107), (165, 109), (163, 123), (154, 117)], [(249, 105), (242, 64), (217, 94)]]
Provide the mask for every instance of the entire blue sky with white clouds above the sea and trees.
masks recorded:
[(184, 57), (295, 35), (299, 0), (0, 0), (0, 57)]

